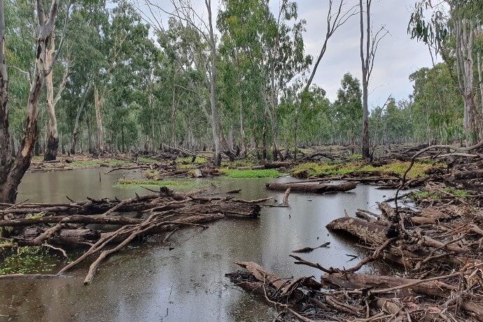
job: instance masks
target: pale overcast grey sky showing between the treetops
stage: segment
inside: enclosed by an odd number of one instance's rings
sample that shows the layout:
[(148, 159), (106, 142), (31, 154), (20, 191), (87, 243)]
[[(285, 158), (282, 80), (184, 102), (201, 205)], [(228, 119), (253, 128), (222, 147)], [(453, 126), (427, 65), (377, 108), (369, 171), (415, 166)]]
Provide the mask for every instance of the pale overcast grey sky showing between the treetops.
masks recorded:
[[(140, 0), (143, 1), (143, 0)], [(169, 0), (151, 0), (159, 6), (171, 11)], [(192, 0), (201, 13), (203, 0)], [(218, 0), (213, 1), (214, 14), (218, 12)], [(328, 0), (295, 0), (299, 6), (299, 18), (307, 21), (304, 33), (304, 42), (308, 54), (318, 56), (321, 45), (325, 39), (325, 19), (328, 11)], [(338, 3), (338, 0), (334, 0)], [(358, 3), (349, 0), (348, 7)], [(279, 0), (271, 0), (272, 8), (278, 10)], [(148, 13), (146, 7), (140, 7)], [(417, 43), (407, 35), (407, 23), (414, 8), (414, 0), (373, 0), (372, 22), (374, 29), (385, 25), (391, 34), (386, 36), (379, 44), (372, 79), (370, 81), (370, 108), (384, 104), (387, 97), (392, 94), (398, 99), (406, 99), (412, 92), (409, 74), (423, 66), (430, 66), (431, 59), (423, 43)], [(167, 16), (158, 11), (165, 27)], [(207, 17), (206, 11), (204, 18)], [(340, 80), (346, 72), (361, 78), (360, 68), (360, 25), (358, 15), (354, 16), (346, 25), (337, 29), (330, 38), (328, 50), (325, 52), (321, 64), (318, 66), (314, 83), (323, 87), (328, 98), (333, 101), (340, 86)]]

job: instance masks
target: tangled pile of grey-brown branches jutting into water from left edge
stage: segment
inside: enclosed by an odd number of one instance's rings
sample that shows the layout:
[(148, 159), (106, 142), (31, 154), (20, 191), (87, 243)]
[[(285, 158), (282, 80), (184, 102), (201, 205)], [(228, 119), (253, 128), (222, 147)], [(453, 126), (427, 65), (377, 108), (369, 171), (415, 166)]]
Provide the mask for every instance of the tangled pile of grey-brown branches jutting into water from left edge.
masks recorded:
[[(266, 201), (202, 196), (201, 193), (201, 190), (176, 193), (162, 187), (159, 193), (126, 200), (88, 198), (67, 204), (0, 204), (0, 227), (10, 228), (8, 231), (1, 230), (0, 252), (11, 251), (18, 246), (45, 246), (66, 257), (61, 247), (87, 246), (87, 251), (66, 265), (59, 274), (96, 255), (97, 259), (90, 265), (84, 281), (91, 283), (104, 259), (136, 239), (168, 234), (167, 239), (172, 232), (186, 226), (206, 229), (208, 226), (202, 224), (228, 215), (257, 218), (260, 206), (256, 203)], [(0, 278), (8, 279), (10, 276)]]

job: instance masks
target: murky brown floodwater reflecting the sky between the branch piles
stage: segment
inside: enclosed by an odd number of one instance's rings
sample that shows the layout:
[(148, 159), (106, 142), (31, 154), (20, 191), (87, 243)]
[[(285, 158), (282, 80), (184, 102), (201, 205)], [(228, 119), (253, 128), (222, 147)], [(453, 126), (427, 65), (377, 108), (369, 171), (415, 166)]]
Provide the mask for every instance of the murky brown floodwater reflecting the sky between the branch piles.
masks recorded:
[[(114, 188), (116, 179), (139, 174), (105, 169), (27, 174), (18, 200), (65, 202), (85, 197), (130, 197), (146, 190)], [(278, 179), (289, 181), (288, 178)], [(268, 179), (218, 178), (218, 190), (241, 188), (237, 196), (259, 199), (283, 193), (265, 190)], [(335, 236), (325, 225), (344, 216), (344, 209), (377, 212), (375, 202), (388, 190), (358, 186), (336, 195), (297, 195), (290, 208), (265, 208), (258, 220), (225, 219), (204, 231), (183, 230), (171, 241), (171, 251), (158, 241), (132, 246), (113, 255), (97, 272), (90, 286), (83, 285), (87, 265), (69, 277), (40, 281), (0, 281), (0, 321), (272, 321), (275, 309), (234, 287), (225, 273), (234, 272), (232, 260), (258, 262), (281, 277), (320, 276), (318, 269), (294, 265), (290, 251), (315, 247), (302, 258), (328, 267), (350, 267), (358, 255), (352, 241)], [(368, 267), (367, 269), (372, 269)]]

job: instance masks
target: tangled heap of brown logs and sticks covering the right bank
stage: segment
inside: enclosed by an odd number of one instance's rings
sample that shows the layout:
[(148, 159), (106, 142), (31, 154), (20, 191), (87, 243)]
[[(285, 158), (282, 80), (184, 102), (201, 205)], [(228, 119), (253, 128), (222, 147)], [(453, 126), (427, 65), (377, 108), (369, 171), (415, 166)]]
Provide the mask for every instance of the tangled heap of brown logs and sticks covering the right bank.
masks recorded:
[[(297, 265), (321, 270), (321, 278), (282, 279), (254, 262), (235, 262), (246, 271), (227, 276), (281, 309), (279, 319), (483, 321), (483, 212), (478, 211), (483, 158), (467, 152), (452, 153), (447, 174), (430, 176), (420, 192), (399, 197), (404, 204), (402, 197), (412, 195), (418, 207), (381, 202), (381, 215), (358, 209), (357, 218), (345, 216), (327, 225), (372, 252), (357, 265), (324, 267), (290, 255)], [(415, 153), (412, 162), (421, 154)], [(405, 175), (399, 185), (407, 187)], [(462, 186), (474, 190), (457, 189)], [(394, 272), (358, 273), (377, 261), (390, 263)]]

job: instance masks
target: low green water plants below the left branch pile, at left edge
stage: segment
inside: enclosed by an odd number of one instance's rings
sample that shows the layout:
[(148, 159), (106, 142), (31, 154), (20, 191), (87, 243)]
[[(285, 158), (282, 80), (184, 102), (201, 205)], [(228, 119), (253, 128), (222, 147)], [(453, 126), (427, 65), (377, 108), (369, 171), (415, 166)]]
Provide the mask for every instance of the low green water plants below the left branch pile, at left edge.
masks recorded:
[(48, 273), (57, 265), (41, 246), (18, 247), (15, 252), (1, 258), (0, 274)]

